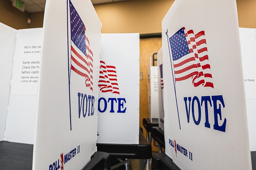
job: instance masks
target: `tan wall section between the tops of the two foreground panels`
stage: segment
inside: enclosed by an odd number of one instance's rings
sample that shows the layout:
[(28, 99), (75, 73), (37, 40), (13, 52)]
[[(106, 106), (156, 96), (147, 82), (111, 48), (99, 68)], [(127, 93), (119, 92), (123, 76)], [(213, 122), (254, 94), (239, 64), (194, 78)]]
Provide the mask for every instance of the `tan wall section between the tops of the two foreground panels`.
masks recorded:
[(161, 32), (161, 22), (174, 0), (131, 0), (95, 5), (103, 33)]

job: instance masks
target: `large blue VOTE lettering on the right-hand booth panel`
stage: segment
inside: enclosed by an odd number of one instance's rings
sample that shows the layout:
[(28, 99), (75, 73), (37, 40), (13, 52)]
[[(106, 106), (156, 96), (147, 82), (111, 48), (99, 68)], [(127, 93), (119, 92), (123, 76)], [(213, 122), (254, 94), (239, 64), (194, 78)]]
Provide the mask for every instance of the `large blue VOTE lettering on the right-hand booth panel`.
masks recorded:
[[(194, 96), (192, 99), (192, 103), (191, 103), (191, 97), (184, 97), (184, 102), (185, 102), (188, 123), (189, 123), (189, 119), (190, 119), (190, 110), (191, 110), (194, 123), (196, 125), (200, 124), (200, 122), (201, 122), (201, 106), (202, 106), (202, 108), (204, 107), (205, 114), (206, 114), (206, 120), (205, 120), (204, 126), (207, 128), (210, 128), (208, 106), (210, 106), (210, 107), (213, 106), (213, 110), (214, 110), (213, 129), (217, 130), (217, 131), (225, 132), (227, 119), (224, 118), (222, 125), (218, 124), (218, 116), (220, 117), (220, 120), (222, 120), (221, 106), (223, 107), (223, 109), (225, 108), (225, 104), (224, 104), (222, 95), (211, 96), (211, 97), (210, 96), (202, 96), (201, 102), (197, 96)], [(190, 105), (190, 103), (191, 103), (191, 105)], [(204, 103), (204, 105), (203, 105), (203, 103)], [(209, 105), (208, 105), (208, 103), (209, 103)], [(219, 103), (219, 104), (217, 105), (217, 103)], [(195, 118), (195, 114), (196, 114), (195, 107), (198, 110), (198, 112), (197, 112), (198, 119), (197, 120)]]

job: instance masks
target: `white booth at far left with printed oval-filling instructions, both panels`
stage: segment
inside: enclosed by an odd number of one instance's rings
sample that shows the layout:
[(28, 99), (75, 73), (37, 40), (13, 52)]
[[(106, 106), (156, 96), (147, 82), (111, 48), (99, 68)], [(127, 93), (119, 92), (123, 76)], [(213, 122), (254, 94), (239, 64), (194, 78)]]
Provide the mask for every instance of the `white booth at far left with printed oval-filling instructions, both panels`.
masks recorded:
[(34, 143), (42, 28), (0, 24), (2, 62), (1, 141)]

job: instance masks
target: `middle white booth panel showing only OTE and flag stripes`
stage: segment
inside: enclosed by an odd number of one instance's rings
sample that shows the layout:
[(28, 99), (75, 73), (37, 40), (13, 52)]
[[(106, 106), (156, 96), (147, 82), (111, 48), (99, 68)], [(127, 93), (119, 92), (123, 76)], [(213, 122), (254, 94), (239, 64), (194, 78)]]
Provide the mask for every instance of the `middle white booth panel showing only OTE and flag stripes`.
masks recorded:
[(97, 143), (139, 144), (139, 73), (139, 34), (102, 34)]

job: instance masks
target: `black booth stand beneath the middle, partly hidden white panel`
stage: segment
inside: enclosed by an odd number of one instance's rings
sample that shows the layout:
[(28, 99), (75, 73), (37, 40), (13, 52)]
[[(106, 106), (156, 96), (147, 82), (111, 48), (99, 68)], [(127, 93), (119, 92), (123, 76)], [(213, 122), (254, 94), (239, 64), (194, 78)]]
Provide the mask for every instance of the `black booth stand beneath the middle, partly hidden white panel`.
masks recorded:
[(119, 161), (112, 165), (111, 169), (118, 168), (133, 159), (146, 160), (152, 157), (151, 144), (144, 138), (142, 130), (140, 130), (139, 144), (97, 143), (97, 150), (109, 153), (111, 159)]

